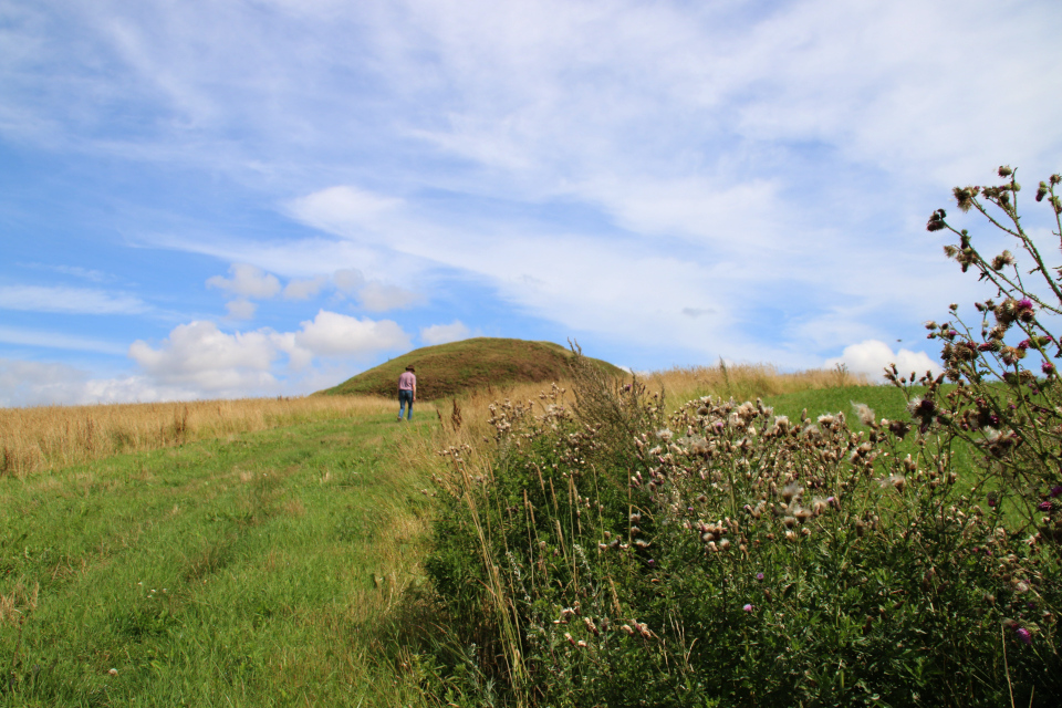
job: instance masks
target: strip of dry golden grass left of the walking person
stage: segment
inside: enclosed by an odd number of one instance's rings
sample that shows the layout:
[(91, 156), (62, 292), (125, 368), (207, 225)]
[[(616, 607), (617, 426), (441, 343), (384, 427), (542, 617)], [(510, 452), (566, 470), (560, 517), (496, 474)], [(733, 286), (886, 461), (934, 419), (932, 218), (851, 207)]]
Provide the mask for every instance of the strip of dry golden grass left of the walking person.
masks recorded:
[(0, 408), (0, 475), (22, 478), (119, 452), (394, 407), (376, 396), (306, 396)]

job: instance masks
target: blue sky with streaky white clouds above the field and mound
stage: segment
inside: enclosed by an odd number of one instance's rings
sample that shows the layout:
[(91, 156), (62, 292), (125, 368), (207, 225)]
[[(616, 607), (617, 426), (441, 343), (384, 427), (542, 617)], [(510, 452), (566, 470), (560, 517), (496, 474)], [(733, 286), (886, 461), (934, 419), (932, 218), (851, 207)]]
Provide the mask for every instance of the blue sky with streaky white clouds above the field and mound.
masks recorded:
[(472, 336), (925, 371), (991, 294), (925, 230), (951, 187), (1017, 167), (1050, 237), (1060, 37), (1058, 0), (0, 0), (0, 406)]

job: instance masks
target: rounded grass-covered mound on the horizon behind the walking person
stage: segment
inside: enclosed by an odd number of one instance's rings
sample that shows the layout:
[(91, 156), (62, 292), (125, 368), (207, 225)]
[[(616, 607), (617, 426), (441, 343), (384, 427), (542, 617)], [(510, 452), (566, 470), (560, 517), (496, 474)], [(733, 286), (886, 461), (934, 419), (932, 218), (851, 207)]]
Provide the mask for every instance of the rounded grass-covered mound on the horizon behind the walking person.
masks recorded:
[[(414, 350), (319, 393), (394, 396), (398, 375), (412, 364), (417, 369), (417, 397), (436, 400), (488, 384), (500, 387), (560, 381), (569, 376), (571, 357), (569, 350), (552, 342), (477, 337)], [(623, 374), (607, 362), (598, 363), (608, 373)]]

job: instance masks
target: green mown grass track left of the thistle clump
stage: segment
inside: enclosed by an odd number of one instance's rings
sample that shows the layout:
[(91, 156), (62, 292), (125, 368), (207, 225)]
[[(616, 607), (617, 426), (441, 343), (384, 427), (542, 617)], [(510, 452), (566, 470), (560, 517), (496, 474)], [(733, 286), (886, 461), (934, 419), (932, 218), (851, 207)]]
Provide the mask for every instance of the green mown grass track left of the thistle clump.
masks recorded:
[(0, 478), (0, 705), (418, 705), (427, 485), (396, 450), (425, 413)]

